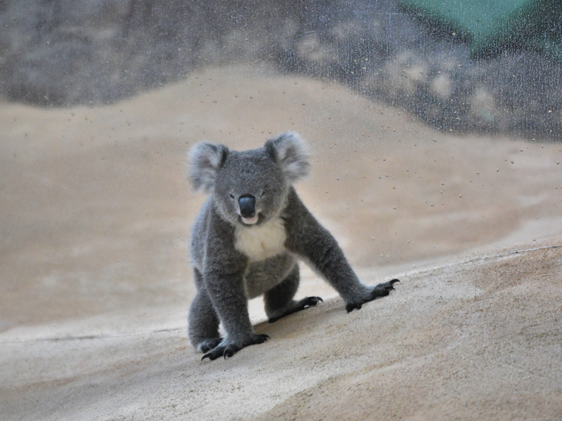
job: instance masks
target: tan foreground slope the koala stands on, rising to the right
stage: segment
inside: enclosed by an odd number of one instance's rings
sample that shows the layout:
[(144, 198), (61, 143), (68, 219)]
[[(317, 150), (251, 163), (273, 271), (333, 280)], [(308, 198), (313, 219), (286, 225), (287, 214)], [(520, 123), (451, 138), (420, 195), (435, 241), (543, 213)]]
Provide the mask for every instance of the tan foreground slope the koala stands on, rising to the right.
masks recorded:
[(117, 322), (110, 317), (105, 333), (91, 338), (41, 340), (37, 332), (18, 340), (6, 332), (1, 413), (6, 420), (559, 420), (562, 249), (554, 243), (402, 274), (391, 298), (360, 312), (346, 314), (336, 298), (261, 323), (256, 330), (271, 339), (227, 361), (201, 362), (183, 329), (108, 333)]

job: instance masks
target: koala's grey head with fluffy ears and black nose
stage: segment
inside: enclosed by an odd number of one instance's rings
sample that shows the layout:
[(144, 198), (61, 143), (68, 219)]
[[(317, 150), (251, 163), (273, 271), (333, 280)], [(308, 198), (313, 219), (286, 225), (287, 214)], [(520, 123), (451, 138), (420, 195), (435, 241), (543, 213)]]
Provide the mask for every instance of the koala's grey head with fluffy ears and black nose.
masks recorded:
[(289, 187), (308, 174), (309, 166), (306, 145), (296, 133), (282, 133), (249, 151), (202, 142), (190, 152), (193, 187), (214, 195), (224, 219), (245, 226), (279, 215)]

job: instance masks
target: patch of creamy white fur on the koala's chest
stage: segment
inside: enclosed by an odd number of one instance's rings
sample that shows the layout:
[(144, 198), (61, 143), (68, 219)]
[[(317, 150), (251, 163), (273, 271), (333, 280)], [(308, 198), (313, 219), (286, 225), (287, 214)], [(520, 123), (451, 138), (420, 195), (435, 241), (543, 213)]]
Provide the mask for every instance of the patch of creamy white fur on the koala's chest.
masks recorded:
[(287, 232), (281, 218), (268, 220), (254, 227), (236, 227), (234, 247), (249, 258), (249, 262), (259, 262), (285, 250)]

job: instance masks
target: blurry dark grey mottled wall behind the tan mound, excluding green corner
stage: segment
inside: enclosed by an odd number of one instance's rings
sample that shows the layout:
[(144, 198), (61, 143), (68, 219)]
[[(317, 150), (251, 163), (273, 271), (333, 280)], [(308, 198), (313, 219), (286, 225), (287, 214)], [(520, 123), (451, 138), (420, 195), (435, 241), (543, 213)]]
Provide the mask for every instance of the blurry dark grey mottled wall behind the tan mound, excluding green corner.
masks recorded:
[(398, 0), (6, 0), (0, 95), (105, 104), (209, 65), (268, 62), (340, 81), (443, 130), (559, 139), (560, 63), (516, 45), (471, 60), (469, 47)]

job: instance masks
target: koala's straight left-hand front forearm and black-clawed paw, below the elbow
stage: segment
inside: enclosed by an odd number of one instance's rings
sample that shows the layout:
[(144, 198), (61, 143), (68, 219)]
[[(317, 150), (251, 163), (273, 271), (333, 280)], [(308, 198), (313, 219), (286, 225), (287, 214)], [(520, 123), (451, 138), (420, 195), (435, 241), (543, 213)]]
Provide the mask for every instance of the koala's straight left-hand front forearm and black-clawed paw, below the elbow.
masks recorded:
[(202, 360), (214, 360), (219, 356), (226, 359), (244, 347), (268, 340), (268, 335), (257, 335), (251, 326), (243, 272), (229, 274), (224, 270), (209, 269), (205, 273), (205, 283), (226, 335), (214, 349), (204, 354)]

